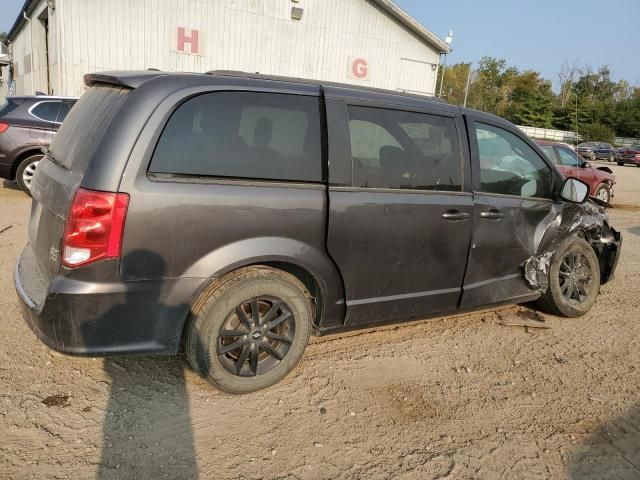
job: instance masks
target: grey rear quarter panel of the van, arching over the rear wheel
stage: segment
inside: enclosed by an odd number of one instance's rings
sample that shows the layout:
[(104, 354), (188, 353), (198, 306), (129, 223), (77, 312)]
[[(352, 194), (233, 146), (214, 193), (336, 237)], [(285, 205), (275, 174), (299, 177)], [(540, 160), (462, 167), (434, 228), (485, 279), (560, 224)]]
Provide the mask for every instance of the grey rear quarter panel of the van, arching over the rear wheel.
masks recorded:
[[(191, 305), (212, 279), (242, 266), (277, 262), (308, 272), (320, 289), (319, 321), (323, 326), (341, 325), (342, 281), (325, 248), (325, 184), (147, 174), (157, 138), (175, 106), (190, 95), (215, 90), (209, 85), (169, 92), (133, 146), (118, 188), (131, 198), (123, 238), (123, 279), (148, 280), (149, 269), (136, 262), (146, 252), (160, 264), (157, 279), (177, 279), (178, 289), (195, 280), (198, 288), (190, 295), (183, 289), (172, 297), (178, 304)], [(99, 181), (98, 173), (90, 172), (92, 183)], [(176, 319), (175, 328), (181, 329), (184, 320)]]

